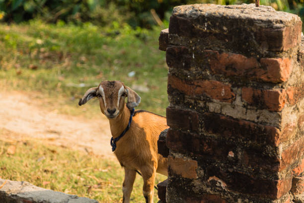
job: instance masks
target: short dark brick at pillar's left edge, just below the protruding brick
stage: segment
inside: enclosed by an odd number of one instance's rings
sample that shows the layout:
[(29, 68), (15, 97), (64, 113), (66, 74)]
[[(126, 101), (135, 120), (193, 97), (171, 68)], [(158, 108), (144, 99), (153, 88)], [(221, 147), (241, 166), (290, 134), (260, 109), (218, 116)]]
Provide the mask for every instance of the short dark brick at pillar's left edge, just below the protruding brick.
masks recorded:
[(190, 69), (191, 55), (187, 47), (168, 46), (166, 48), (166, 62), (171, 68)]

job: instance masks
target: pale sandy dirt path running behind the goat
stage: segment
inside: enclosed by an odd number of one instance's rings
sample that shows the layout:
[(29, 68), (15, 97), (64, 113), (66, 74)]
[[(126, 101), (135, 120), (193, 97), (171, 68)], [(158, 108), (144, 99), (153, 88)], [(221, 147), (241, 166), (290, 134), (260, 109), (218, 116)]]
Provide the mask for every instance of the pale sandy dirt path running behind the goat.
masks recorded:
[(87, 119), (59, 114), (56, 110), (42, 107), (43, 101), (32, 100), (32, 97), (28, 93), (0, 92), (1, 139), (38, 138), (114, 158), (106, 118)]

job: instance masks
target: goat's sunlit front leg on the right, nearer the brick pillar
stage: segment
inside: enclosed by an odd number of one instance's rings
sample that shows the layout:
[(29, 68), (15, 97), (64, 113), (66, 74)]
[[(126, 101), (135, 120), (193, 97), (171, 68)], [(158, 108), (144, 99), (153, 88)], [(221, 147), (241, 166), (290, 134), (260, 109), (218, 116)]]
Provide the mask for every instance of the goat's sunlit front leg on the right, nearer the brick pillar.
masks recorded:
[(146, 203), (153, 203), (156, 170), (155, 168), (150, 168), (142, 171), (142, 173), (144, 179), (143, 194), (146, 199)]

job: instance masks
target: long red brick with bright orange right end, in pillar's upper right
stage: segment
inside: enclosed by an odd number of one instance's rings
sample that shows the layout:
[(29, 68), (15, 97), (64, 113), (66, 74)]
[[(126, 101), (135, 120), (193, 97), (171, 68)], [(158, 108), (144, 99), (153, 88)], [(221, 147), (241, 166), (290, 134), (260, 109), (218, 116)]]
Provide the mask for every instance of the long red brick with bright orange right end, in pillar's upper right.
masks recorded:
[(218, 51), (205, 50), (203, 55), (207, 57), (211, 71), (215, 74), (272, 83), (285, 82), (291, 74), (289, 58), (262, 58), (259, 64), (256, 58), (247, 58), (241, 54), (220, 54)]

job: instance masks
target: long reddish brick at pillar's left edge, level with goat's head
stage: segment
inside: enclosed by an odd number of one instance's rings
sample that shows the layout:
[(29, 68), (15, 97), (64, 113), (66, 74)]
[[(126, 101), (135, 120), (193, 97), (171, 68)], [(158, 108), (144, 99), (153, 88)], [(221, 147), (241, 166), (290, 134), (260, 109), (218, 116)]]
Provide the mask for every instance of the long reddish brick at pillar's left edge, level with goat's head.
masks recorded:
[(206, 95), (211, 99), (229, 103), (235, 100), (235, 94), (231, 90), (231, 85), (219, 81), (184, 81), (175, 76), (169, 75), (168, 86), (191, 97)]

